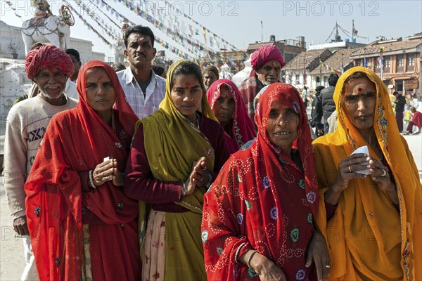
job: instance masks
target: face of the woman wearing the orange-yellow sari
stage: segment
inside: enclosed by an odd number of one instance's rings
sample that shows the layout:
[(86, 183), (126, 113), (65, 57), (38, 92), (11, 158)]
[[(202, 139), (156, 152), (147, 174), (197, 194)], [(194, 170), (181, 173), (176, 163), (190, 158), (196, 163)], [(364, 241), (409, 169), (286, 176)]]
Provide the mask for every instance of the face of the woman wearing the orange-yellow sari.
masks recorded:
[(345, 115), (358, 130), (372, 129), (376, 106), (376, 87), (366, 77), (352, 79), (343, 96)]

